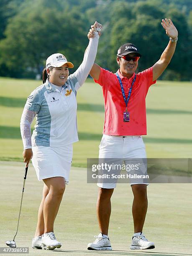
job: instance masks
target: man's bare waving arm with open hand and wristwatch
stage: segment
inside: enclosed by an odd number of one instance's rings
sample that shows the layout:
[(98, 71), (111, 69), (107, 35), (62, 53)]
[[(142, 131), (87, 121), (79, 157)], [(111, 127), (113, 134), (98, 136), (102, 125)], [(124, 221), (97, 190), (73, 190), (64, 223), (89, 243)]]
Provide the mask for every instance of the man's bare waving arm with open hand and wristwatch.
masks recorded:
[(161, 54), (161, 58), (153, 66), (153, 81), (158, 79), (160, 75), (164, 72), (166, 67), (169, 65), (172, 59), (172, 56), (175, 52), (177, 38), (178, 38), (177, 28), (172, 23), (172, 20), (170, 19), (162, 20), (161, 25), (166, 30), (166, 34), (167, 36), (170, 37), (170, 40), (166, 49)]

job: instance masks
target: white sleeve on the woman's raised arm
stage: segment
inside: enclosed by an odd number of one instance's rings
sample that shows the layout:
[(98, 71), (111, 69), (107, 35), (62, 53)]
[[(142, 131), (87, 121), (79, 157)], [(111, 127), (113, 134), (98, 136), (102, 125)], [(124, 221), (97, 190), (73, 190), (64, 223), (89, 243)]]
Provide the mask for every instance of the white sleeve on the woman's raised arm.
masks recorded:
[(99, 34), (95, 32), (95, 37), (90, 38), (90, 42), (87, 46), (87, 51), (84, 54), (82, 64), (79, 68), (71, 75), (71, 78), (76, 78), (78, 83), (75, 85), (75, 90), (77, 91), (84, 81), (87, 79), (88, 74), (94, 64), (95, 57), (97, 54), (97, 46), (99, 41)]

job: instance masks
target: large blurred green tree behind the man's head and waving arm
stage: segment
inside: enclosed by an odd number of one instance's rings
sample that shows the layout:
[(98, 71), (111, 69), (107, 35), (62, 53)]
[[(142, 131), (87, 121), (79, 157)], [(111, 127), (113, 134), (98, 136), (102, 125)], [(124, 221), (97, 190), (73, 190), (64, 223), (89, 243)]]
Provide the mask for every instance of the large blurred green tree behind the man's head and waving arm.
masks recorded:
[[(98, 7), (95, 10), (87, 11), (92, 16), (96, 15), (97, 12)], [(108, 13), (105, 15), (104, 12)], [(172, 5), (170, 9), (165, 8), (163, 0), (162, 6), (157, 6), (156, 1), (136, 1), (136, 3), (115, 1), (110, 6), (108, 5), (108, 9), (102, 10), (102, 16), (109, 17), (109, 15), (111, 18), (107, 22), (107, 29), (103, 31), (103, 38), (100, 40), (97, 53), (96, 61), (98, 64), (115, 72), (118, 68), (116, 62), (118, 48), (126, 42), (131, 42), (138, 47), (142, 54), (139, 60), (138, 72), (153, 66), (169, 43), (169, 38), (161, 26), (161, 19), (167, 17), (171, 18), (177, 27), (179, 41), (174, 57), (160, 79), (167, 79), (167, 77), (172, 77), (174, 80), (191, 79), (192, 50), (187, 17), (176, 6)], [(102, 49), (100, 49), (101, 46)], [(186, 63), (186, 65), (179, 67), (179, 60)]]

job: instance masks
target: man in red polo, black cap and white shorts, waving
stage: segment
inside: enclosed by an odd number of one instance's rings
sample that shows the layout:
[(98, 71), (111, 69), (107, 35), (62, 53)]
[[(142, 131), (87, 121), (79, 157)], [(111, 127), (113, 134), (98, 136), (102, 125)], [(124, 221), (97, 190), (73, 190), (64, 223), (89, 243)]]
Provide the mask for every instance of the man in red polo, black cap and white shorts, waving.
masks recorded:
[[(105, 123), (100, 143), (100, 159), (145, 159), (146, 151), (141, 135), (146, 135), (146, 105), (145, 99), (149, 87), (164, 72), (174, 54), (178, 32), (172, 20), (162, 20), (162, 26), (169, 36), (169, 44), (161, 58), (153, 67), (136, 74), (138, 60), (141, 54), (133, 44), (123, 44), (118, 49), (118, 71), (113, 74), (102, 69), (96, 63), (90, 75), (100, 84), (105, 101)], [(92, 30), (88, 37), (94, 36)], [(148, 241), (143, 234), (143, 225), (147, 212), (147, 184), (137, 179), (131, 181), (133, 191), (133, 222), (134, 234), (131, 249), (152, 249), (153, 242)], [(97, 217), (100, 232), (88, 250), (112, 250), (108, 226), (111, 213), (110, 198), (116, 187), (116, 181), (98, 183)]]

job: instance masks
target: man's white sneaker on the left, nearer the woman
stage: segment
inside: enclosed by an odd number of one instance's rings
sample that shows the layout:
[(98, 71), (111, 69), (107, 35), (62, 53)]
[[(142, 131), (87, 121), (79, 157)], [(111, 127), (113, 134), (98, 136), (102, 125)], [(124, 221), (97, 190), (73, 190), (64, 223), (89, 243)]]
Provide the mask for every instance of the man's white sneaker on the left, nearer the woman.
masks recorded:
[(102, 233), (99, 233), (98, 236), (94, 236), (97, 239), (93, 243), (88, 243), (87, 250), (112, 250), (111, 243), (109, 238), (104, 238)]

